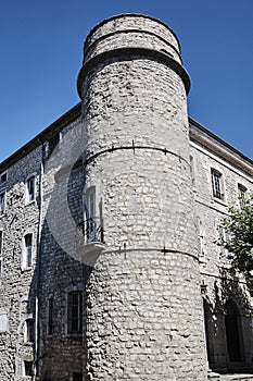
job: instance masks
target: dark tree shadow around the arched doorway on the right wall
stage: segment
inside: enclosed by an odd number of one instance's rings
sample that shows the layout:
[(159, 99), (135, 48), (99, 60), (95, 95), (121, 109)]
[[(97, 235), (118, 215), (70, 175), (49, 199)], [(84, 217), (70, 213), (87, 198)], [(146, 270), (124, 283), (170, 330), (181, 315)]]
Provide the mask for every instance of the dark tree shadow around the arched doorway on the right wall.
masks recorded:
[(244, 283), (220, 270), (214, 281), (214, 302), (204, 295), (208, 364), (220, 373), (253, 370), (252, 311)]

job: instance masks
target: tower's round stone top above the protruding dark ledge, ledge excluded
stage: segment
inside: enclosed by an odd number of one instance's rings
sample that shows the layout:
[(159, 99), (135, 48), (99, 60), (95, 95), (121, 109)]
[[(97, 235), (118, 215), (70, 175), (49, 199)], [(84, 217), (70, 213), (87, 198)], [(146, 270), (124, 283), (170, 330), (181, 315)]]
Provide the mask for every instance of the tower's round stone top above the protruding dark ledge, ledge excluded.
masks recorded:
[(122, 48), (156, 50), (181, 64), (175, 33), (161, 21), (141, 14), (122, 14), (98, 24), (86, 39), (84, 63), (102, 52)]

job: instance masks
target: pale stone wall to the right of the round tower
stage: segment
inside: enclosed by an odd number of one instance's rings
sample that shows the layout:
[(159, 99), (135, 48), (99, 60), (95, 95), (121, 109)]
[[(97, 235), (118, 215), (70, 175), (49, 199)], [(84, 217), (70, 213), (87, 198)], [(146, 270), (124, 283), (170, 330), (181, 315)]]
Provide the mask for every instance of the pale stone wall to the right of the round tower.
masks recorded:
[[(243, 185), (246, 197), (252, 194), (253, 183), (249, 172), (232, 162), (214, 155), (211, 149), (192, 143), (192, 181), (195, 212), (199, 220), (199, 255), (201, 284), (205, 304), (205, 322), (210, 366), (214, 370), (229, 371), (237, 367), (252, 368), (252, 304), (244, 280), (229, 273), (228, 253), (217, 245), (220, 221), (228, 208), (240, 208), (238, 185)], [(222, 174), (224, 199), (214, 197), (212, 169)], [(226, 332), (226, 304), (232, 302), (238, 308), (241, 364), (231, 365)]]

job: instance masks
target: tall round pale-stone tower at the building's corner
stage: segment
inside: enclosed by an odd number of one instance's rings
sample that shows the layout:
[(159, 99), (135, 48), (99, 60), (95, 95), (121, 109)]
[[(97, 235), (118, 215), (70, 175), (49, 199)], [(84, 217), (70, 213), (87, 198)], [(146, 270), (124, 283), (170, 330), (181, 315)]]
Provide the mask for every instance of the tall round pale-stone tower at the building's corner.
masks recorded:
[(189, 87), (157, 20), (114, 16), (87, 37), (87, 247), (102, 249), (87, 285), (88, 380), (206, 380)]

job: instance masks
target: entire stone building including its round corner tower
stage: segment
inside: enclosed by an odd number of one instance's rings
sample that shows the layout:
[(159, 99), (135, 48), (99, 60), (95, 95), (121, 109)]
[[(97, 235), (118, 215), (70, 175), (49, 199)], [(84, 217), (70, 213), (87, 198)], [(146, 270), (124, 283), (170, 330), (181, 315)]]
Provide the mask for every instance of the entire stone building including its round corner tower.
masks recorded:
[(215, 241), (253, 162), (188, 116), (174, 32), (96, 26), (80, 103), (0, 164), (0, 380), (218, 380), (252, 299)]

